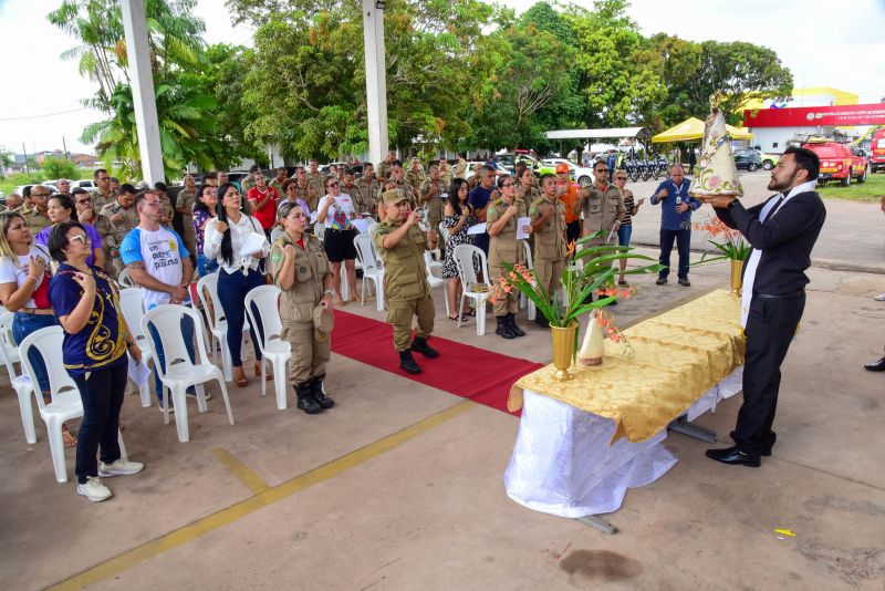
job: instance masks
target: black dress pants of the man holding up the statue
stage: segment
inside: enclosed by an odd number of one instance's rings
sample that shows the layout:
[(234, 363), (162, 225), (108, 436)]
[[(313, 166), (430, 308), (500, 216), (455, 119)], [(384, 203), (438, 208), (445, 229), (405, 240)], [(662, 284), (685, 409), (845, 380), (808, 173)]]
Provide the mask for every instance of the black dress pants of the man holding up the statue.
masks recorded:
[(781, 384), (781, 363), (805, 309), (805, 296), (768, 299), (754, 296), (747, 319), (743, 404), (731, 432), (738, 448), (758, 454), (771, 445)]

